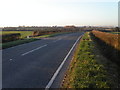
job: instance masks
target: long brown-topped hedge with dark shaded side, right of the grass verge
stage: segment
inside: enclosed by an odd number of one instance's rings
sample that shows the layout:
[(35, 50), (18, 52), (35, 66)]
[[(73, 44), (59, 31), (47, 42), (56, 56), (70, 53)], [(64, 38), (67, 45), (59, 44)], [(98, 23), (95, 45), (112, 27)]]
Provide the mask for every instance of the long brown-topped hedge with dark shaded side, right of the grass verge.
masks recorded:
[(112, 62), (120, 64), (120, 35), (92, 31), (92, 39), (97, 42), (101, 53)]

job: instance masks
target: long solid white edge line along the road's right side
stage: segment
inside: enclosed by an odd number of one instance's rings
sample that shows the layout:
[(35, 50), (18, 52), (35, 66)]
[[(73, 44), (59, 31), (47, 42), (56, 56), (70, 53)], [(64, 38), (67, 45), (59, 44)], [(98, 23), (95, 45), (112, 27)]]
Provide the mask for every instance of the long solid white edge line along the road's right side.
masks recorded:
[(68, 52), (68, 54), (66, 55), (66, 57), (64, 58), (63, 62), (60, 64), (60, 66), (58, 67), (58, 69), (56, 70), (56, 72), (54, 73), (54, 75), (52, 76), (51, 80), (46, 85), (45, 90), (47, 90), (47, 89), (49, 89), (51, 87), (51, 85), (53, 84), (56, 76), (60, 72), (61, 68), (63, 67), (63, 65), (65, 63), (65, 61), (67, 60), (67, 58), (69, 57), (70, 53), (72, 52), (72, 50), (74, 49), (74, 47), (76, 46), (77, 42), (80, 40), (81, 37), (82, 36), (78, 37), (78, 39), (76, 40), (76, 42), (74, 43), (74, 45), (72, 46), (72, 48), (70, 49), (70, 51)]

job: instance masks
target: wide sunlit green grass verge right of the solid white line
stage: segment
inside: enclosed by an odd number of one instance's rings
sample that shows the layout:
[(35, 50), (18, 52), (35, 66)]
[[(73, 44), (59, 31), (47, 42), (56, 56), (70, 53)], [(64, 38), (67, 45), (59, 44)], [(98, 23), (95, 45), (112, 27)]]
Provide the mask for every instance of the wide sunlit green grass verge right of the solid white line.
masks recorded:
[(109, 88), (111, 83), (104, 65), (97, 62), (89, 33), (81, 39), (62, 88)]

